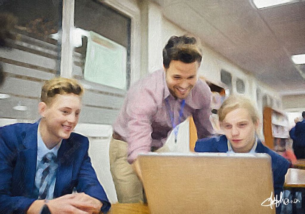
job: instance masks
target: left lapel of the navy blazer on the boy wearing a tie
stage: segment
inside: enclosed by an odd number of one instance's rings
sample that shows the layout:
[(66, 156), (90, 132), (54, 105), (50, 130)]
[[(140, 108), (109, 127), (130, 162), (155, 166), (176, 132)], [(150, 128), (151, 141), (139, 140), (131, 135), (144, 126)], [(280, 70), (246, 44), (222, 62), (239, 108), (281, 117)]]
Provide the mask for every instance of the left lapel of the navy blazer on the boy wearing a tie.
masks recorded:
[(34, 182), (35, 182), (35, 175), (36, 175), (36, 163), (37, 163), (37, 130), (38, 130), (38, 124), (30, 124), (30, 127), (28, 130), (25, 130), (25, 137), (23, 140), (23, 146), (25, 149), (21, 150), (19, 152), (19, 158), (20, 158), (20, 165), (21, 170), (20, 172), (24, 173), (24, 184), (27, 188), (28, 193), (33, 194), (34, 189)]

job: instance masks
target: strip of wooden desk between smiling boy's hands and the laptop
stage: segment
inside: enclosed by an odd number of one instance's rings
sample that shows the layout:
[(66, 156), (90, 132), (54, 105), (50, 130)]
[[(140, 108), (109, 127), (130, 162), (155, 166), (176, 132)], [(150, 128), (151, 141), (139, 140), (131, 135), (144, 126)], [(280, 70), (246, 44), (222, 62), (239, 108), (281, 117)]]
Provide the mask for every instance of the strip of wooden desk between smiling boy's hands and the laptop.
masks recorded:
[(109, 214), (150, 214), (146, 204), (112, 204)]

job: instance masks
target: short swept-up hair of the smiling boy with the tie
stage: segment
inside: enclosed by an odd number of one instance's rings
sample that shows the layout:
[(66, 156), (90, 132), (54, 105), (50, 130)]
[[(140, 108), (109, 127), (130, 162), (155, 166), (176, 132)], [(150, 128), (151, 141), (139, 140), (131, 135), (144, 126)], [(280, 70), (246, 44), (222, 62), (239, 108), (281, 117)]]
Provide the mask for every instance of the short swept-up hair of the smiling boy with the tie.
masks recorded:
[(74, 79), (68, 79), (64, 77), (56, 77), (51, 80), (47, 80), (41, 89), (41, 102), (49, 105), (55, 95), (64, 95), (73, 93), (78, 96), (82, 96), (84, 92), (83, 87)]

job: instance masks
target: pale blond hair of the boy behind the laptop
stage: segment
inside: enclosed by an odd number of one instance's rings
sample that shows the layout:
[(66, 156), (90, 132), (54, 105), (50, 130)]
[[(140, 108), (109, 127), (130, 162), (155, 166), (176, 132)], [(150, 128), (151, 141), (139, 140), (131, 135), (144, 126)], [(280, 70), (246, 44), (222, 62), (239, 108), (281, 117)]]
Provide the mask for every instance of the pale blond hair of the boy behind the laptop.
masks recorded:
[(249, 113), (249, 116), (254, 124), (258, 121), (258, 113), (256, 107), (253, 105), (253, 102), (245, 95), (231, 95), (229, 96), (221, 105), (217, 111), (219, 116), (219, 122), (223, 122), (225, 116), (238, 108), (246, 109)]

